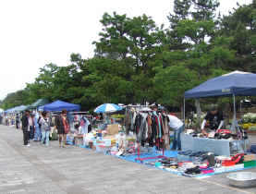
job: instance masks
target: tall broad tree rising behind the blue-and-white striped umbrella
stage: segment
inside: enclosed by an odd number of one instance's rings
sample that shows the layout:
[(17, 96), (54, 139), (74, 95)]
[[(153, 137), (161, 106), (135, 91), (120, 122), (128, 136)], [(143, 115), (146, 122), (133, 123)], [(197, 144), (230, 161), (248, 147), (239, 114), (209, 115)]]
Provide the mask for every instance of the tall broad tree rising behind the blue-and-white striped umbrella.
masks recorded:
[[(153, 86), (152, 67), (157, 64), (163, 51), (165, 32), (156, 27), (152, 18), (146, 15), (127, 18), (126, 15), (117, 15), (116, 12), (114, 16), (105, 13), (101, 23), (104, 26), (100, 33), (102, 38), (100, 42), (93, 42), (97, 56), (106, 57), (108, 60), (116, 58), (116, 62), (109, 63), (107, 70), (118, 70), (119, 78), (109, 72), (109, 77), (101, 79), (102, 83), (97, 83), (97, 86), (112, 87), (112, 92), (106, 89), (101, 91), (109, 100), (115, 96), (113, 90), (118, 90), (121, 94), (119, 101), (128, 98), (131, 103), (145, 103)], [(108, 72), (106, 69), (104, 71)], [(119, 87), (112, 82), (116, 82)]]

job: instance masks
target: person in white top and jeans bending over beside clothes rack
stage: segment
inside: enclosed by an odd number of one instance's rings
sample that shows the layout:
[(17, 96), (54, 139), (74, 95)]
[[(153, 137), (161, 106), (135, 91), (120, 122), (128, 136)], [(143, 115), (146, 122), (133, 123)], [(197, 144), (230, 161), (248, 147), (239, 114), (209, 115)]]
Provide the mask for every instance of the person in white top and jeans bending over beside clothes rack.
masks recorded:
[(175, 115), (168, 115), (170, 122), (168, 123), (169, 127), (174, 128), (175, 132), (173, 135), (173, 148), (171, 151), (181, 151), (181, 140), (180, 134), (184, 129), (184, 125)]

